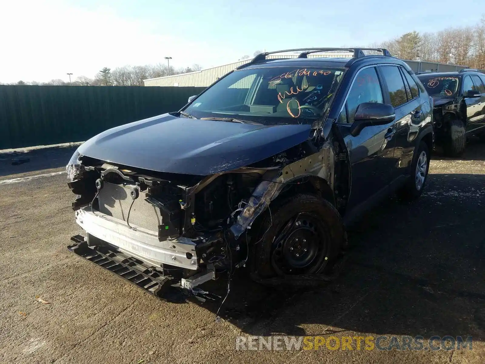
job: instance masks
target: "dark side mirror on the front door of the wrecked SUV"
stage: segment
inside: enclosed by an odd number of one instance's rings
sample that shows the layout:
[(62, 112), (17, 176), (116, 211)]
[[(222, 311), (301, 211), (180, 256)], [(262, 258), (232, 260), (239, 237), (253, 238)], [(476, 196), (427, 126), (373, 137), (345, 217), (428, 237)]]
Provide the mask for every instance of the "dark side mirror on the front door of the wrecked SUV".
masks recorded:
[(386, 125), (395, 118), (394, 107), (391, 105), (377, 102), (363, 102), (357, 106), (350, 133), (352, 136), (357, 136), (367, 126)]

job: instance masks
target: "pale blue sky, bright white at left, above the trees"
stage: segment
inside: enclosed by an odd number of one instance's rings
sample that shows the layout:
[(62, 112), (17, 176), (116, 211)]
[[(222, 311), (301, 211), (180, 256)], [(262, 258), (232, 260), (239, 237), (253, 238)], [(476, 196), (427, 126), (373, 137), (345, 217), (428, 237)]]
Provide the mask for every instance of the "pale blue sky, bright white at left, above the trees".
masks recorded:
[[(484, 0), (0, 0), (0, 82), (93, 78), (104, 66), (203, 68), (255, 50), (367, 45), (475, 25)], [(475, 9), (475, 10), (472, 10)], [(483, 10), (480, 10), (483, 9)]]

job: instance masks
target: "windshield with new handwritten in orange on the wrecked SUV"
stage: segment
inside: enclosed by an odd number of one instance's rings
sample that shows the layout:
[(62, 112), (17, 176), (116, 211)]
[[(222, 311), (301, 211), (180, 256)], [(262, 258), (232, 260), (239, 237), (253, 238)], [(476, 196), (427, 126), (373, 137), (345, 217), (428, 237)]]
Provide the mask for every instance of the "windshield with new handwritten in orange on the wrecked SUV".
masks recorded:
[(184, 111), (263, 125), (311, 124), (327, 111), (343, 69), (264, 67), (227, 75)]

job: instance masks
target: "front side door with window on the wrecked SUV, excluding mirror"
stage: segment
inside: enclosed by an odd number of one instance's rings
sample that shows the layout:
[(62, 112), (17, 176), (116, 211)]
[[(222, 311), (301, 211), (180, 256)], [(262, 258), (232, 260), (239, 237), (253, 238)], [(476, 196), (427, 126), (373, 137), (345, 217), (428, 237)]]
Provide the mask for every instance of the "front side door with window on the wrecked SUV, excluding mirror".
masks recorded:
[(349, 209), (387, 192), (393, 164), (394, 139), (387, 138), (392, 123), (366, 127), (356, 137), (349, 132), (357, 106), (363, 102), (384, 103), (381, 80), (374, 66), (358, 71), (337, 121), (350, 154), (352, 181)]

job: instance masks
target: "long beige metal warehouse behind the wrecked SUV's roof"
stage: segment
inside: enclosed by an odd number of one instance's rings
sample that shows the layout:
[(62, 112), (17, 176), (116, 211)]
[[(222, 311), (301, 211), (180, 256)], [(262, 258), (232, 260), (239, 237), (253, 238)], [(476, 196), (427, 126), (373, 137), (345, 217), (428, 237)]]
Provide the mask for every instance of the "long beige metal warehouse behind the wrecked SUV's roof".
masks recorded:
[[(270, 54), (266, 56), (266, 59), (281, 59), (281, 58), (296, 58), (299, 52), (295, 54)], [(308, 54), (308, 58), (352, 58), (353, 53), (313, 53)], [(229, 63), (223, 66), (217, 66), (212, 68), (203, 69), (201, 71), (182, 73), (173, 76), (164, 76), (158, 78), (151, 78), (148, 80), (143, 80), (145, 86), (195, 86), (195, 87), (207, 87), (213, 82), (215, 82), (219, 77), (224, 76), (226, 73), (232, 71), (233, 69), (242, 66), (251, 59), (245, 59), (243, 61), (238, 61), (234, 63)], [(408, 61), (404, 60), (414, 72), (429, 71), (429, 72), (451, 72), (457, 71), (463, 68), (468, 68), (467, 66), (455, 66), (446, 65), (443, 63), (431, 63), (431, 62), (421, 62), (421, 61)]]

